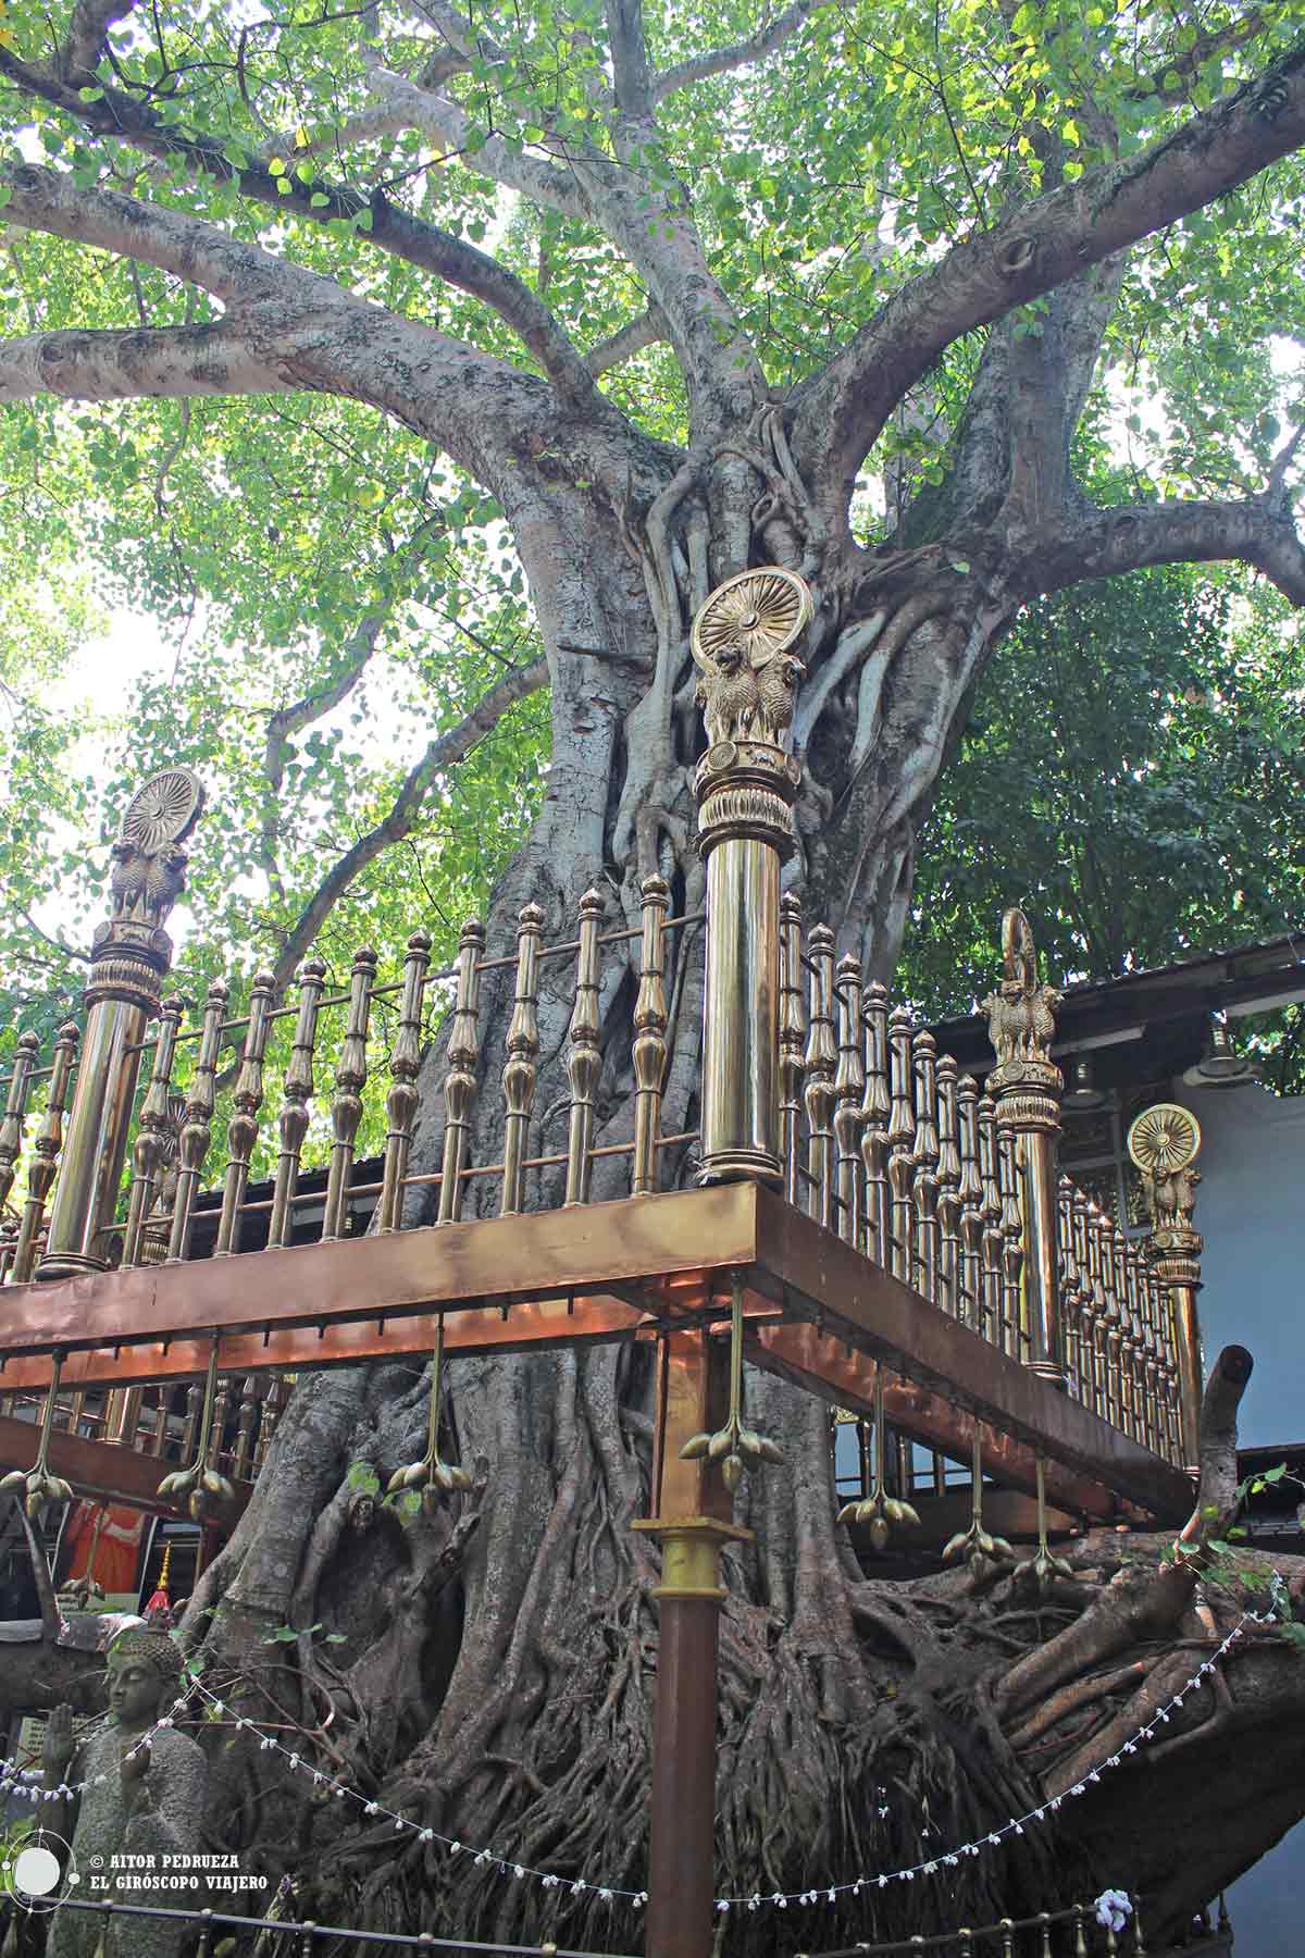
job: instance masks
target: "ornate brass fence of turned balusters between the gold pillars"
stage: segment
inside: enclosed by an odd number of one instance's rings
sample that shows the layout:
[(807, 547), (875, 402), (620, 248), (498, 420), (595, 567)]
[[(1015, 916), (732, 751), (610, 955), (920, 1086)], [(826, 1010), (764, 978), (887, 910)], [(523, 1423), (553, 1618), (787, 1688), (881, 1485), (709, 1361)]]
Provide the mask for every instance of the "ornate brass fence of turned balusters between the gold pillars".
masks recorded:
[[(579, 903), (575, 934), (560, 944), (542, 942), (542, 912), (526, 905), (511, 950), (489, 956), (485, 930), (472, 920), (456, 961), (440, 971), (430, 971), (430, 940), (417, 932), (399, 981), (380, 983), (376, 954), (362, 950), (346, 989), (327, 991), (325, 963), (309, 959), (282, 999), (270, 975), (258, 973), (241, 1014), (229, 1014), (223, 981), (209, 987), (198, 1012), (178, 999), (162, 1001), (158, 1030), (127, 1042), (117, 1057), (117, 1067), (133, 1075), (131, 1093), (110, 1087), (108, 1100), (123, 1102), (129, 1112), (123, 1140), (133, 1138), (131, 1167), (121, 1189), (112, 1177), (102, 1179), (102, 1222), (86, 1237), (88, 1255), (78, 1267), (94, 1259), (100, 1267), (133, 1269), (333, 1241), (368, 1220), (374, 1230), (395, 1232), (419, 1222), (569, 1208), (593, 1200), (599, 1165), (605, 1198), (671, 1187), (695, 1167), (698, 1145), (697, 1128), (663, 1132), (661, 1108), (673, 1016), (697, 1016), (704, 993), (702, 922), (702, 912), (673, 916), (665, 881), (648, 877), (634, 928), (605, 930), (605, 899), (589, 891)], [(1170, 1463), (1190, 1461), (1184, 1326), (1170, 1306), (1164, 1261), (1148, 1255), (1150, 1245), (1127, 1237), (1068, 1177), (1058, 1179), (1049, 1216), (1029, 1202), (1031, 1142), (1055, 1143), (1055, 1096), (1043, 1095), (1031, 1116), (1025, 1083), (1017, 1079), (1012, 1091), (1006, 1081), (1004, 1089), (1002, 1069), (988, 1077), (998, 1093), (988, 1093), (953, 1055), (937, 1051), (929, 1028), (906, 1004), (894, 1004), (886, 987), (863, 983), (855, 956), (835, 959), (828, 926), (804, 928), (792, 895), (779, 907), (779, 940), (775, 1065), (779, 1167), (788, 1202), (1012, 1359), (1062, 1380), (1072, 1398), (1152, 1453)], [(538, 987), (542, 969), (562, 961), (571, 1001), (569, 1093), (563, 1104), (542, 1112)], [(636, 989), (624, 1061), (605, 1057), (601, 1048), (599, 1001), (605, 985), (620, 977), (616, 961), (628, 961)], [(485, 1065), (483, 1040), (491, 973), (509, 975), (513, 989), (497, 1083)], [(383, 1044), (380, 1002), (391, 1002)], [(438, 1012), (442, 1002), (450, 1014), (440, 1083), (442, 1159), (438, 1169), (413, 1171), (425, 1028), (432, 1006)], [(331, 1069), (319, 1059), (329, 1014), (338, 1014), (342, 1026)], [(286, 1020), (293, 1026), (292, 1044), (274, 1083), (268, 1040)], [(22, 1208), (0, 1230), (0, 1273), (8, 1282), (65, 1269), (59, 1253), (45, 1259), (41, 1253), (78, 1073), (76, 1048), (76, 1026), (68, 1024), (41, 1067), (35, 1038), (23, 1034), (8, 1083), (0, 1083), (6, 1091), (0, 1202), (25, 1169)], [(215, 1110), (225, 1053), (233, 1085), (219, 1155)], [(174, 1081), (186, 1059), (188, 1085), (178, 1091)], [(1045, 1069), (1047, 1061), (1035, 1057), (1033, 1065)], [(634, 1083), (630, 1134), (605, 1142), (599, 1089), (605, 1077), (610, 1083), (622, 1071)], [(503, 1153), (477, 1161), (470, 1134), (477, 1098), (487, 1095), (501, 1098)], [(356, 1138), (368, 1110), (383, 1118), (380, 1175), (360, 1175), (356, 1165)], [(554, 1149), (532, 1145), (546, 1120), (558, 1128)], [(1037, 1136), (1031, 1120), (1041, 1124)], [(313, 1124), (319, 1165), (327, 1155), (325, 1189), (321, 1167), (311, 1177), (303, 1169)], [(272, 1138), (274, 1173), (262, 1189), (250, 1187), (254, 1153)], [(1031, 1275), (1047, 1263), (1051, 1302), (1043, 1300), (1035, 1312)], [(190, 1402), (198, 1402), (198, 1388)], [(266, 1447), (268, 1412), (252, 1382), (221, 1384), (219, 1453), (229, 1457), (237, 1480)], [(166, 1394), (151, 1412), (149, 1398), (135, 1388), (102, 1404), (61, 1396), (57, 1422), (162, 1457), (174, 1453), (168, 1437), (186, 1453), (188, 1422), (196, 1418), (196, 1406), (184, 1410)]]

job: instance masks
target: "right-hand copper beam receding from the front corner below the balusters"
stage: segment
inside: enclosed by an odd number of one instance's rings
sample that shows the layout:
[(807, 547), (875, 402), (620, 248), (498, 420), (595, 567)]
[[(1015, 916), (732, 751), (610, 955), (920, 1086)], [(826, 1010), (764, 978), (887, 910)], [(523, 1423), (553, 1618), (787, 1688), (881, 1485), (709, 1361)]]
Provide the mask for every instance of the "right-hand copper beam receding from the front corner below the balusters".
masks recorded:
[[(822, 1382), (837, 1398), (847, 1380), (833, 1355), (851, 1347), (1150, 1515), (1178, 1523), (1192, 1514), (1192, 1482), (1180, 1468), (959, 1326), (783, 1198), (755, 1190), (753, 1200), (759, 1282), (792, 1316), (820, 1324), (826, 1333), (820, 1347), (808, 1347), (812, 1369), (794, 1369), (806, 1384)], [(757, 1345), (763, 1337), (775, 1335), (757, 1331)], [(1064, 1484), (1053, 1500), (1062, 1496)]]

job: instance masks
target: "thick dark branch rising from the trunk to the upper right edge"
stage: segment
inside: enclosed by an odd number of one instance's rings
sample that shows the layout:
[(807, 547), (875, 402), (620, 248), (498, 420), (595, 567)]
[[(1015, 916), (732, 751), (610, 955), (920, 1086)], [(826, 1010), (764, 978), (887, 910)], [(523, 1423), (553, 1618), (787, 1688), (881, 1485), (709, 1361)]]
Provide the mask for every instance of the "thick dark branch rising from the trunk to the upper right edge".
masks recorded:
[(800, 468), (820, 470), (826, 507), (845, 515), (888, 413), (955, 339), (1199, 210), (1301, 143), (1305, 41), (1176, 135), (955, 245), (886, 300), (794, 397), (794, 456)]

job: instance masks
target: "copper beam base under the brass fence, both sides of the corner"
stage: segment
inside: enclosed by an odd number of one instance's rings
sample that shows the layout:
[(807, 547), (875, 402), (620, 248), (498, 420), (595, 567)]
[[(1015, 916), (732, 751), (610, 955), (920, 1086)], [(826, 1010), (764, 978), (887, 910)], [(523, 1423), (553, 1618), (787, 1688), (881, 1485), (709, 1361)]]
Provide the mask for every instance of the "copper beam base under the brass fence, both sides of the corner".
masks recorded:
[[(1188, 1478), (1076, 1400), (1058, 1394), (978, 1333), (927, 1304), (783, 1196), (747, 1183), (540, 1210), (340, 1243), (250, 1251), (55, 1284), (6, 1286), (0, 1392), (45, 1386), (65, 1351), (67, 1386), (164, 1380), (203, 1373), (207, 1333), (239, 1373), (350, 1365), (428, 1351), (434, 1312), (448, 1314), (448, 1353), (652, 1335), (657, 1322), (714, 1314), (730, 1269), (747, 1279), (745, 1308), (763, 1365), (792, 1371), (830, 1398), (857, 1400), (839, 1353), (902, 1375), (939, 1406), (1013, 1439), (1010, 1480), (1043, 1455), (1070, 1480), (1103, 1484), (1148, 1514), (1182, 1521)], [(783, 1314), (828, 1339), (781, 1353), (755, 1320)], [(39, 1355), (39, 1357), (37, 1357)], [(855, 1371), (855, 1369), (853, 1369)], [(923, 1412), (902, 1425), (931, 1437)], [(898, 1416), (894, 1416), (898, 1420)], [(941, 1445), (951, 1445), (939, 1427)], [(965, 1439), (965, 1437), (961, 1437)], [(1021, 1453), (1023, 1451), (1023, 1453)], [(994, 1467), (998, 1467), (994, 1459)], [(1053, 1502), (1066, 1502), (1055, 1482)], [(1103, 1514), (1102, 1498), (1070, 1504)]]

